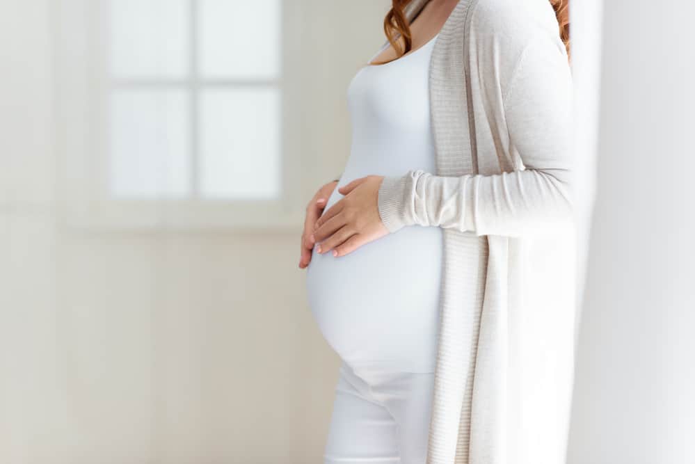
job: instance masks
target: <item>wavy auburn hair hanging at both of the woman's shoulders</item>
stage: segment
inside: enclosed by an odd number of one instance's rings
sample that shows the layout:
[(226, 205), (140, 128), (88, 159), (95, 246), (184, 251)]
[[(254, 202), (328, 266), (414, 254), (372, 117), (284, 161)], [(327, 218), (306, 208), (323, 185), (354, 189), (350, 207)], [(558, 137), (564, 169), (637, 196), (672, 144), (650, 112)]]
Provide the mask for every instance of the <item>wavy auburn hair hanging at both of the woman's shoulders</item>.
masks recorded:
[[(406, 19), (405, 9), (410, 0), (392, 0), (392, 7), (384, 18), (384, 33), (396, 51), (396, 56), (403, 56), (413, 48), (413, 34)], [(555, 11), (560, 38), (570, 56), (570, 0), (550, 0)], [(397, 40), (397, 35), (403, 38), (403, 46)]]

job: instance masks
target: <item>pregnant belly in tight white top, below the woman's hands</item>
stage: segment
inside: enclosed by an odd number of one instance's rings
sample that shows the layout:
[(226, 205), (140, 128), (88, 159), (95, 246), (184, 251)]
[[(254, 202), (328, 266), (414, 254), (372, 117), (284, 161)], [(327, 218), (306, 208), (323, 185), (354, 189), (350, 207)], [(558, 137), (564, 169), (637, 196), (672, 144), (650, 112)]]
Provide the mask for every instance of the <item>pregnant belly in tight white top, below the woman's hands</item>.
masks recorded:
[(314, 248), (307, 294), (323, 337), (353, 366), (433, 372), (441, 263), (439, 227), (404, 227), (342, 257)]

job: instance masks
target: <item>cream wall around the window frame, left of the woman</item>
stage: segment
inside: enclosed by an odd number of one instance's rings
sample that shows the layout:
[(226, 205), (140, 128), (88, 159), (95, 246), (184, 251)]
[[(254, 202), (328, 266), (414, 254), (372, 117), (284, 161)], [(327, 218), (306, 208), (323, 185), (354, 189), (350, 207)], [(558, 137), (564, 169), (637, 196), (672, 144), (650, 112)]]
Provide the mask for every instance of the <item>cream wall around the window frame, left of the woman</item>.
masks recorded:
[[(342, 170), (346, 86), (382, 43), (385, 2), (305, 3), (308, 200)], [(320, 462), (337, 360), (305, 304), (300, 225), (67, 227), (57, 3), (2, 4), (0, 462)]]

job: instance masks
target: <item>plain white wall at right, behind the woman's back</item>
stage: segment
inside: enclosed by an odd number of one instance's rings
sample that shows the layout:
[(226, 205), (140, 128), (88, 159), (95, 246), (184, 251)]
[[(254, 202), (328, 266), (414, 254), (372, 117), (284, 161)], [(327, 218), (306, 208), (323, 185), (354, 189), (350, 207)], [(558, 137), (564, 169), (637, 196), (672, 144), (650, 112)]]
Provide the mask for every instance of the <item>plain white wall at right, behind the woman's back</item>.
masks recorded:
[(695, 462), (689, 2), (606, 1), (572, 464)]

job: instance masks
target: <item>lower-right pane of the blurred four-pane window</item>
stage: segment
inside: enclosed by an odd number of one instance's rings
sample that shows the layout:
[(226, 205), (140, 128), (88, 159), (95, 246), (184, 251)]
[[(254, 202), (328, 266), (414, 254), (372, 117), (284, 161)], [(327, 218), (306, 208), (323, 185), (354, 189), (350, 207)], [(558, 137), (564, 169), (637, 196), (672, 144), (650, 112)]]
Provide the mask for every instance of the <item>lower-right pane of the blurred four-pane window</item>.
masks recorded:
[(277, 198), (280, 195), (278, 89), (205, 90), (200, 118), (202, 195)]

